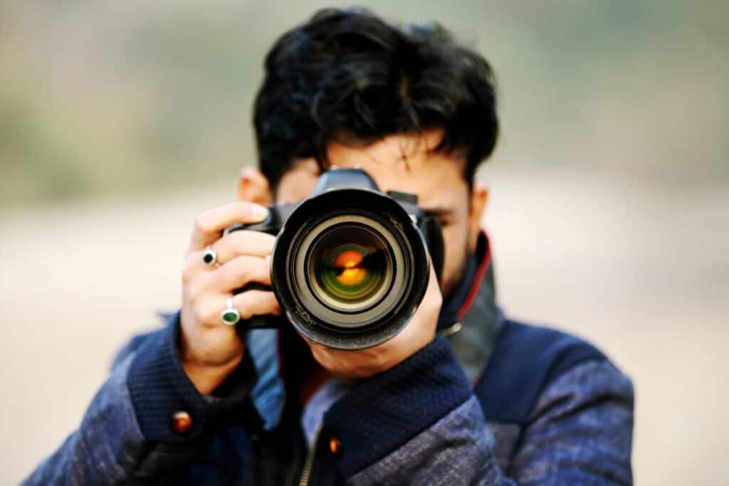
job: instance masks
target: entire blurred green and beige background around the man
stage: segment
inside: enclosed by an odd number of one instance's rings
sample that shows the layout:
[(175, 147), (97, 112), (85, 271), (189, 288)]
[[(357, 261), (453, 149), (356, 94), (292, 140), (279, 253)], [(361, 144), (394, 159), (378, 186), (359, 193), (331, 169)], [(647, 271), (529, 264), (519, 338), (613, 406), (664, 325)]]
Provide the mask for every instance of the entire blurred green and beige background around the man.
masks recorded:
[[(500, 300), (634, 380), (636, 484), (728, 484), (729, 4), (361, 3), (493, 64)], [(256, 160), (266, 50), (337, 4), (0, 0), (1, 484), (179, 305), (193, 219)]]

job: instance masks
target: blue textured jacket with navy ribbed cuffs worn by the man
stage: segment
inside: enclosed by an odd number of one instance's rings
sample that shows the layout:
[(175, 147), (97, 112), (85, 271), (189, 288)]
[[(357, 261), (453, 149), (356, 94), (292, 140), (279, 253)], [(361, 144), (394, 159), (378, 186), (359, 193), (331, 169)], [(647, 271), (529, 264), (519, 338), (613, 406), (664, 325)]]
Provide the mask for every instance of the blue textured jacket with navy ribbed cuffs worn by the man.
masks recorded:
[(241, 365), (202, 396), (169, 316), (125, 346), (81, 426), (24, 484), (632, 484), (630, 380), (576, 337), (505, 318), (485, 237), (439, 336), (381, 375), (330, 382), (302, 407), (311, 356), (287, 329), (250, 332)]

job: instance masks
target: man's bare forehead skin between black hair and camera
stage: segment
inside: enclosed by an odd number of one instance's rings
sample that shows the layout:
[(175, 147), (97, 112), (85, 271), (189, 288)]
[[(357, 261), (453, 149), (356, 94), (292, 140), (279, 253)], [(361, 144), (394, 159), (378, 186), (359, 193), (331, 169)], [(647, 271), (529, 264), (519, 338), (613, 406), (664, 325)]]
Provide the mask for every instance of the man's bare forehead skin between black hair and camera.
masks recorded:
[[(451, 207), (467, 195), (464, 161), (451, 154), (432, 152), (441, 133), (394, 135), (368, 146), (331, 144), (328, 156), (340, 168), (362, 168), (383, 191), (399, 190), (418, 195), (424, 207)], [(293, 202), (308, 196), (319, 170), (314, 160), (302, 160), (281, 179), (278, 200)]]

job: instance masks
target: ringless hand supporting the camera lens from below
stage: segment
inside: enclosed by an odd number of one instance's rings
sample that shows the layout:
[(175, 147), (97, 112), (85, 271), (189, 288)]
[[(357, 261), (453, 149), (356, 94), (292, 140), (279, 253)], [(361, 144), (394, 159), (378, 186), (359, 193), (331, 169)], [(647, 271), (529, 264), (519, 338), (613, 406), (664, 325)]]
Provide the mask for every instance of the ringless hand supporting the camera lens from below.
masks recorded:
[(418, 310), (405, 329), (391, 340), (362, 350), (340, 350), (304, 339), (324, 369), (345, 383), (354, 383), (402, 363), (432, 342), (442, 304), (443, 296), (431, 266), (428, 288)]

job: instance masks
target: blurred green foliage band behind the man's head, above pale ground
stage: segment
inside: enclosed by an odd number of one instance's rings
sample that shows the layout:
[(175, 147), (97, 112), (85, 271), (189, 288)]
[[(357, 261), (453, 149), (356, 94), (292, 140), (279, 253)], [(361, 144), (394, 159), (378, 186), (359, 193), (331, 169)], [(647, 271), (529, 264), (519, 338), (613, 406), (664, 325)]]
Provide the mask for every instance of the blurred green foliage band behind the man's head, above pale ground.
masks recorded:
[[(335, 2), (346, 5), (343, 2)], [(319, 1), (0, 2), (0, 204), (139, 195), (254, 163), (262, 59)], [(495, 162), (729, 183), (726, 2), (369, 1), (488, 58)]]

